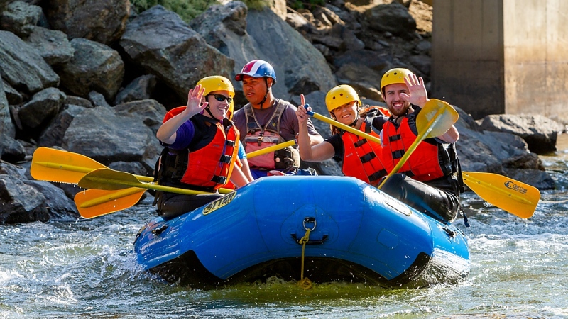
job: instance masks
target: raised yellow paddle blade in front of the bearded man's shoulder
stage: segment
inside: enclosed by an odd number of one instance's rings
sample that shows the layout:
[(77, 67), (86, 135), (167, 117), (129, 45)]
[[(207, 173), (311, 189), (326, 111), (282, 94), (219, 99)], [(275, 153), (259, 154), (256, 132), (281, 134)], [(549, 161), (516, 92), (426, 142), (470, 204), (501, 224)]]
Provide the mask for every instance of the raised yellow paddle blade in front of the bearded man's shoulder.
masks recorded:
[(418, 133), (426, 133), (425, 138), (435, 138), (446, 133), (458, 118), (459, 114), (449, 103), (430, 99), (418, 113), (416, 127)]

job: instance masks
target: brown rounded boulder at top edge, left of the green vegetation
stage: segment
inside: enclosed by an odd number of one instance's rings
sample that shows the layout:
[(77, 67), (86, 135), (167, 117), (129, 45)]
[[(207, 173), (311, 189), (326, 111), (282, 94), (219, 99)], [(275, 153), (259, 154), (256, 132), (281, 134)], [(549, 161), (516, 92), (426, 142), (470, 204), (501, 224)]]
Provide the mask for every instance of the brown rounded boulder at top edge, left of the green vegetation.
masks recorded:
[(50, 0), (45, 10), (50, 25), (69, 38), (103, 44), (120, 38), (129, 14), (129, 0)]

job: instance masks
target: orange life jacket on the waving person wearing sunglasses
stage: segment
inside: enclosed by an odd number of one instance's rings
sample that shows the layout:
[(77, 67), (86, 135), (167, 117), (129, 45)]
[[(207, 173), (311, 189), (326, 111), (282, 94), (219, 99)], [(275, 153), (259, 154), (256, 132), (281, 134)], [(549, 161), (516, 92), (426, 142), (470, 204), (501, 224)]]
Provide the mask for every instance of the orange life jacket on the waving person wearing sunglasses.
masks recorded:
[[(185, 106), (174, 108), (166, 113), (164, 122), (181, 113)], [(217, 122), (217, 132), (209, 144), (198, 150), (178, 150), (176, 154), (163, 152), (160, 171), (163, 176), (174, 182), (199, 189), (219, 189), (231, 177), (239, 152), (239, 130), (234, 124), (224, 119), (224, 125)], [(173, 152), (173, 150), (169, 150)]]

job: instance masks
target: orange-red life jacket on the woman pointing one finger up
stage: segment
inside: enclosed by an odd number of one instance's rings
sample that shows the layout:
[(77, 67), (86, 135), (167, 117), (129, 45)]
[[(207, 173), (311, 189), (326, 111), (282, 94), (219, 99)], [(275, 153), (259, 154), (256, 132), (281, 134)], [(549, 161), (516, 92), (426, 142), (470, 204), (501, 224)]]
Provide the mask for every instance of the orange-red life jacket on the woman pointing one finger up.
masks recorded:
[[(380, 138), (378, 133), (373, 130), (372, 119), (372, 116), (367, 116), (359, 129)], [(383, 147), (376, 142), (368, 141), (349, 132), (342, 133), (342, 140), (344, 146), (343, 174), (378, 186), (381, 177), (387, 174), (381, 162)]]

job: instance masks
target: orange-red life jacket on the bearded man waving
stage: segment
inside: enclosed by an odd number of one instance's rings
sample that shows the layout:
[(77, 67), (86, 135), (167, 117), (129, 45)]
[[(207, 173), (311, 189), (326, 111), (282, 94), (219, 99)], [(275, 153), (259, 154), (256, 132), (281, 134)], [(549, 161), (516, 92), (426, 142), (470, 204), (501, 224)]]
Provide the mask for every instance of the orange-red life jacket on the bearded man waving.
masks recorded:
[[(410, 122), (409, 118), (411, 118)], [(390, 173), (398, 164), (416, 137), (415, 116), (405, 116), (398, 128), (391, 119), (383, 125), (381, 142), (383, 144), (383, 164), (387, 172)], [(418, 181), (431, 181), (452, 174), (452, 165), (457, 155), (455, 152), (450, 153), (448, 147), (453, 150), (453, 144), (442, 144), (436, 142), (434, 138), (423, 140), (403, 167), (400, 167), (399, 172)]]

